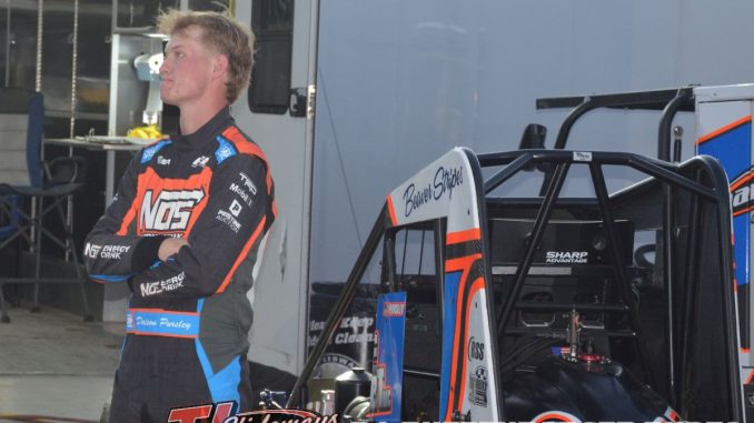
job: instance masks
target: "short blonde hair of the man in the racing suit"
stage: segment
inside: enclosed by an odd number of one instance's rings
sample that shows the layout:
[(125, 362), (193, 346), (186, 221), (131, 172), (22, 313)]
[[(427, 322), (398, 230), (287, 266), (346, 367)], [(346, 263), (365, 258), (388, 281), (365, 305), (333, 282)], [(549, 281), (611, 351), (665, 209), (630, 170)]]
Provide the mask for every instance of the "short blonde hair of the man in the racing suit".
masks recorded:
[(157, 18), (157, 29), (166, 36), (183, 33), (195, 26), (202, 29), (201, 42), (205, 46), (228, 58), (225, 97), (232, 104), (251, 79), (254, 32), (245, 24), (217, 12), (171, 9)]

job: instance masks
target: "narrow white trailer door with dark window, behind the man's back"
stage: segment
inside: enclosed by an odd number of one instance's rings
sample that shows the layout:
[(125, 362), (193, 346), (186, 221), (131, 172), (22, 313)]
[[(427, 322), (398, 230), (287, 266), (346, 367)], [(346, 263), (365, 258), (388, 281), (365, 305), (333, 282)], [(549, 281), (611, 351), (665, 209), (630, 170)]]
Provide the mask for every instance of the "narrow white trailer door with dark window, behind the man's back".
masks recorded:
[(267, 155), (278, 207), (249, 292), (255, 322), (248, 356), (294, 374), (306, 359), (318, 9), (316, 0), (237, 1), (235, 8), (257, 43), (251, 87), (231, 112)]

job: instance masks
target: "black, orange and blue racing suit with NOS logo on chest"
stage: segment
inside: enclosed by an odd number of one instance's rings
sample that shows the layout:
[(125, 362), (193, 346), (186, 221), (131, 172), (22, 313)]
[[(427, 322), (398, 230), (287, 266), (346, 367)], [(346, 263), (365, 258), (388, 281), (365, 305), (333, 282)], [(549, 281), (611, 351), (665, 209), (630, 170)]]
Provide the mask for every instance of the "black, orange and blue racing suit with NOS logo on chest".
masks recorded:
[[(131, 290), (110, 422), (229, 401), (249, 410), (247, 292), (275, 214), (265, 155), (227, 108), (133, 158), (85, 248), (92, 280)], [(167, 236), (189, 245), (160, 261)]]

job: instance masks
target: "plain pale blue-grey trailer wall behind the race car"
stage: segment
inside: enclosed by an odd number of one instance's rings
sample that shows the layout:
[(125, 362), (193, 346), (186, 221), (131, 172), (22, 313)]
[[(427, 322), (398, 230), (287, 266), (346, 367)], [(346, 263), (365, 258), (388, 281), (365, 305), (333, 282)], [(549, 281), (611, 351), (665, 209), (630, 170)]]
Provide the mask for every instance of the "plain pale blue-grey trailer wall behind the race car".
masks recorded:
[[(552, 147), (568, 110), (537, 98), (753, 81), (752, 17), (744, 0), (321, 1), (309, 280), (345, 281), (387, 192), (452, 147), (516, 149), (529, 122)], [(567, 148), (654, 157), (658, 121), (593, 111)], [(687, 158), (693, 115), (675, 124)]]

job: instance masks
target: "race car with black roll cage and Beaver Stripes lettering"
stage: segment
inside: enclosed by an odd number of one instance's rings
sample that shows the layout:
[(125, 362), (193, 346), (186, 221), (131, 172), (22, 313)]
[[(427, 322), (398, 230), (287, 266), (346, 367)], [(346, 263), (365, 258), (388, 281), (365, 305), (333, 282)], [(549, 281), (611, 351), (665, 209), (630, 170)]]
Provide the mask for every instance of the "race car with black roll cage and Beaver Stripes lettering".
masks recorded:
[[(542, 193), (526, 195), (538, 170)], [(637, 182), (616, 188), (615, 172)], [(744, 421), (727, 187), (705, 155), (453, 149), (387, 195), (287, 406), (379, 422)], [(370, 377), (348, 390), (312, 375), (370, 263)]]

